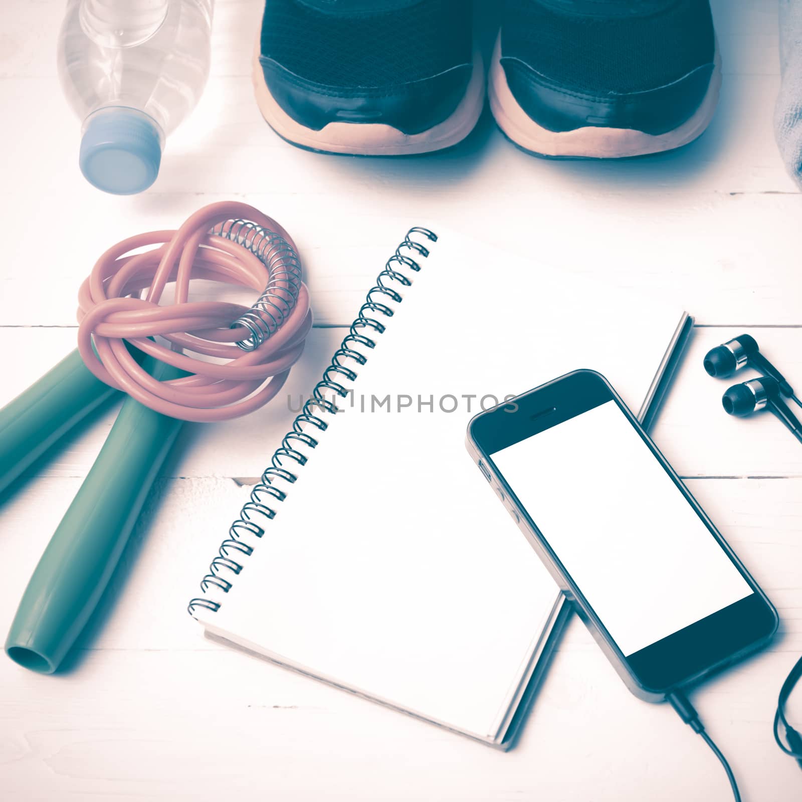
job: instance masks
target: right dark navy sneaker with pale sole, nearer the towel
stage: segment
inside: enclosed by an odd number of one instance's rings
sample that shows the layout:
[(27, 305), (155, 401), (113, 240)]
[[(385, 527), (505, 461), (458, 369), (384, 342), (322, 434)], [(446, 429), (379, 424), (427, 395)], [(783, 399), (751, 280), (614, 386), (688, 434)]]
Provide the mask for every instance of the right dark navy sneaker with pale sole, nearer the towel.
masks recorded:
[(617, 158), (695, 140), (718, 102), (708, 0), (507, 0), (496, 122), (541, 156)]

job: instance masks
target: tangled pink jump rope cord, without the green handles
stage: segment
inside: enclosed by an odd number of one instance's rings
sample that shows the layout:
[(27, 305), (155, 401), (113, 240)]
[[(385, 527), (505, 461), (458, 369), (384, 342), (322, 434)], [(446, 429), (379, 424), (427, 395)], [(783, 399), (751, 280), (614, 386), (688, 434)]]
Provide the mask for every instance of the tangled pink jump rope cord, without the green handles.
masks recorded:
[[(78, 310), (78, 348), (98, 379), (157, 412), (199, 423), (247, 415), (282, 389), (312, 326), (305, 284), (298, 281), (296, 294), (279, 292), (288, 312), (283, 320), (273, 320), (269, 337), (253, 350), (234, 344), (249, 338), (251, 332), (245, 326), (229, 328), (250, 307), (188, 302), (191, 278), (250, 287), (260, 294), (268, 285), (269, 269), (255, 253), (237, 241), (209, 233), (220, 224), (225, 231), (235, 221), (269, 229), (298, 253), (276, 221), (253, 206), (228, 201), (200, 209), (177, 231), (139, 234), (103, 253), (81, 286)], [(159, 247), (144, 253), (125, 255), (156, 244)], [(175, 282), (174, 302), (159, 306), (168, 282)], [(148, 294), (140, 298), (146, 287)], [(172, 349), (148, 339), (157, 334)], [(124, 340), (193, 375), (164, 382), (154, 379), (128, 353)], [(184, 348), (230, 361), (202, 361), (183, 354), (180, 349)]]

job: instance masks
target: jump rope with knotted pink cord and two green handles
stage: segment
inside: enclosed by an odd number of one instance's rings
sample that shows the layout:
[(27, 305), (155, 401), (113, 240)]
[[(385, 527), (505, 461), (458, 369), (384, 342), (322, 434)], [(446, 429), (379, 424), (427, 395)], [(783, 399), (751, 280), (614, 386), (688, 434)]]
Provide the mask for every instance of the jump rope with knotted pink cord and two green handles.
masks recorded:
[[(253, 306), (193, 302), (192, 279), (259, 296)], [(162, 303), (168, 284), (172, 303)], [(78, 319), (78, 350), (0, 412), (2, 489), (114, 390), (128, 395), (6, 639), (10, 658), (47, 674), (95, 610), (181, 423), (236, 418), (275, 398), (312, 326), (292, 237), (233, 202), (108, 249), (80, 288)]]

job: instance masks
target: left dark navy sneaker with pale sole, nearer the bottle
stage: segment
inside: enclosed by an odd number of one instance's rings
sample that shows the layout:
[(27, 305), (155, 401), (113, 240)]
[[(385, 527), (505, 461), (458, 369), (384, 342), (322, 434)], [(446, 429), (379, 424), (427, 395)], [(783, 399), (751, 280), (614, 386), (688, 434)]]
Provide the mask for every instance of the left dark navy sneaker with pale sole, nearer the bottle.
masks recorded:
[(448, 148), (484, 104), (472, 2), (266, 0), (253, 83), (273, 130), (302, 148)]

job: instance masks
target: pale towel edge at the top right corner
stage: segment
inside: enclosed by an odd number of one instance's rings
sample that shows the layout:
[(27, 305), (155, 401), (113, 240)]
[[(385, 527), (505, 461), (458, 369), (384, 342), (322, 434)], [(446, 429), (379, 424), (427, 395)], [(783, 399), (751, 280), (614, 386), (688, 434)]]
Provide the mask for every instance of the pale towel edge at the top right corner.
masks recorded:
[(788, 173), (802, 187), (802, 0), (780, 0), (780, 75), (774, 136)]

